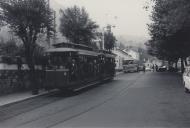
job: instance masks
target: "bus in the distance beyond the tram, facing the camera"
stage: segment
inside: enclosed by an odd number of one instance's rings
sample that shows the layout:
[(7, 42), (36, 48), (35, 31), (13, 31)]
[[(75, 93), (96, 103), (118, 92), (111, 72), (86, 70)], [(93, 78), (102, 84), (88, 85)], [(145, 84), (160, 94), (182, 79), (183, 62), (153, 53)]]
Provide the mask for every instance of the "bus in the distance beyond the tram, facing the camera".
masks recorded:
[(139, 63), (137, 60), (123, 60), (123, 72), (138, 72)]

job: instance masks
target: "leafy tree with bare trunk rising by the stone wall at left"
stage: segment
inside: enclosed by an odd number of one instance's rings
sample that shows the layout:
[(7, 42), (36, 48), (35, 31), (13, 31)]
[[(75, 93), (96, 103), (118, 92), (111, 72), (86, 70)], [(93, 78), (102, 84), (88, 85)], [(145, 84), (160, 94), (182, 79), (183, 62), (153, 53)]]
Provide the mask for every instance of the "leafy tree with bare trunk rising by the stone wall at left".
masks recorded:
[(33, 93), (38, 93), (35, 77), (34, 51), (40, 33), (51, 35), (53, 13), (46, 0), (0, 1), (0, 19), (18, 36), (24, 45), (25, 57), (30, 68)]

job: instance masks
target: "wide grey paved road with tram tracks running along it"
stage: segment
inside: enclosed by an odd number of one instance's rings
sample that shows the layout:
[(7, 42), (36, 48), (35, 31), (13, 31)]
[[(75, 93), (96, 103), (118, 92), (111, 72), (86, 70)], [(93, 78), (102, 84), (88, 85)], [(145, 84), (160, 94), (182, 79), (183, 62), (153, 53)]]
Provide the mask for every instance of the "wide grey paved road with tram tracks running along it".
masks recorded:
[(76, 95), (61, 92), (0, 108), (0, 127), (190, 127), (179, 74), (120, 74)]

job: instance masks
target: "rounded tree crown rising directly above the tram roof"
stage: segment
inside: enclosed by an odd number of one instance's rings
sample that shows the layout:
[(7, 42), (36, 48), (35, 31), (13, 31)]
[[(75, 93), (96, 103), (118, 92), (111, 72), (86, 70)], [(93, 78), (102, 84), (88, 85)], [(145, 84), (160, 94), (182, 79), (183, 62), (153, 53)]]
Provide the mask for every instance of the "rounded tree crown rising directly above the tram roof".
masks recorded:
[(90, 46), (98, 25), (89, 18), (84, 8), (77, 6), (61, 10), (60, 32), (69, 41)]

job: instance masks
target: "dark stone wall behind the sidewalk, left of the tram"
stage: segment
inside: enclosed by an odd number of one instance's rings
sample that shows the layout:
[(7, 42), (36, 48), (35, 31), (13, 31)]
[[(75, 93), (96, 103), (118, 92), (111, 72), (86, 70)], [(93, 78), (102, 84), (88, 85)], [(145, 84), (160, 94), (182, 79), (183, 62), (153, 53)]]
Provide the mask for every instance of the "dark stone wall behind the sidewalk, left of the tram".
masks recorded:
[[(36, 71), (40, 88), (43, 87), (43, 75), (41, 70)], [(30, 85), (29, 70), (25, 65), (18, 71), (17, 65), (0, 64), (0, 95), (31, 90)]]

